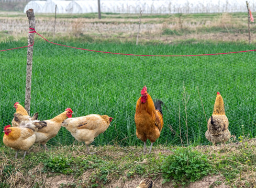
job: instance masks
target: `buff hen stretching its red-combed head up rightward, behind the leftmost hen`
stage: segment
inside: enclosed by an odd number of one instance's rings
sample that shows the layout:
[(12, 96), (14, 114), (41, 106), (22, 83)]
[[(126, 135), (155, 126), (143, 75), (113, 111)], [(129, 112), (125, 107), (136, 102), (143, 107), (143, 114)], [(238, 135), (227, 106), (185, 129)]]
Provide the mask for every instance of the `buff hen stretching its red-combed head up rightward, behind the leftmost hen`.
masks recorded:
[(61, 128), (61, 123), (67, 118), (67, 117), (72, 117), (73, 111), (71, 108), (67, 108), (64, 112), (61, 114), (53, 117), (51, 120), (44, 120), (43, 122), (46, 122), (47, 126), (41, 128), (38, 130), (36, 134), (36, 141), (35, 143), (40, 143), (41, 145), (44, 146), (45, 149), (46, 143), (48, 142), (49, 139), (53, 138), (56, 136)]

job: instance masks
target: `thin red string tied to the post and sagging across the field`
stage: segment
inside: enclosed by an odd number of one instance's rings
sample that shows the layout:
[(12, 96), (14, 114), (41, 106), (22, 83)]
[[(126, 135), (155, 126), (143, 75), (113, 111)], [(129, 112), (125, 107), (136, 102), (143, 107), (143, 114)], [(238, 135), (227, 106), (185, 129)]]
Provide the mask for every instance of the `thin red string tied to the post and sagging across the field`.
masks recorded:
[[(37, 33), (34, 28), (29, 28), (29, 29), (34, 30), (34, 31), (29, 31), (29, 33)], [(44, 40), (46, 40), (47, 42), (52, 43), (52, 44), (56, 44), (56, 45), (60, 45), (60, 46), (65, 46), (65, 47), (69, 47), (69, 48), (73, 48), (73, 49), (86, 50), (86, 51), (91, 51), (91, 52), (101, 52), (101, 53), (117, 54), (117, 55), (157, 56), (157, 57), (185, 57), (185, 56), (221, 55), (221, 54), (231, 54), (231, 53), (242, 53), (242, 52), (252, 52), (252, 51), (256, 51), (256, 50), (246, 50), (246, 51), (239, 51), (239, 52), (225, 52), (225, 53), (214, 53), (214, 54), (196, 54), (196, 55), (139, 55), (139, 54), (125, 54), (125, 53), (115, 53), (115, 52), (104, 52), (104, 51), (97, 51), (97, 50), (88, 50), (88, 49), (82, 49), (82, 48), (76, 48), (76, 47), (73, 47), (73, 46), (58, 44), (58, 43), (54, 43), (54, 42), (48, 41), (46, 38), (42, 37), (39, 33), (37, 33), (37, 34), (38, 34), (41, 38), (43, 38)], [(33, 42), (32, 45), (34, 45), (34, 42)], [(27, 46), (22, 46), (22, 47), (13, 48), (13, 49), (7, 49), (7, 50), (14, 50), (14, 49), (19, 49), (19, 48), (26, 48), (26, 47), (29, 47), (29, 46), (32, 46), (32, 45), (27, 45)], [(7, 51), (7, 50), (0, 50), (0, 52), (1, 52), (1, 51)]]

